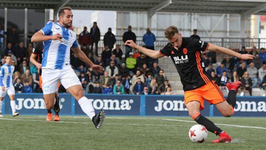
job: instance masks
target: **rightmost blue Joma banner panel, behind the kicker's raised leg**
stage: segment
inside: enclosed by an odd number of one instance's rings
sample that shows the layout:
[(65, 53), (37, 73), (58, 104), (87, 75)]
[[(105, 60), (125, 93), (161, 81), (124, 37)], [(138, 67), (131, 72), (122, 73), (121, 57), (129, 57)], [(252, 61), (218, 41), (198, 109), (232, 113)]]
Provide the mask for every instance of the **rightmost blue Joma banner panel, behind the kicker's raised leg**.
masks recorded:
[[(237, 97), (235, 105), (235, 117), (265, 117), (266, 97), (245, 96)], [(218, 109), (213, 107), (213, 116), (222, 116)]]

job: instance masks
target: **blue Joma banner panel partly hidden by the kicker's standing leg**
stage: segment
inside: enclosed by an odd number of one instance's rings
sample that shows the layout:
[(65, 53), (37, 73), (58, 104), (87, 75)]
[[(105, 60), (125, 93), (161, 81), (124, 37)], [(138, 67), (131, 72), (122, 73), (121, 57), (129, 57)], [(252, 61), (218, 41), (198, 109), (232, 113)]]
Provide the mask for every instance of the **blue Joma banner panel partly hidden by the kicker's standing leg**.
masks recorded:
[[(184, 96), (146, 96), (145, 115), (153, 116), (189, 116), (187, 108), (184, 105)], [(209, 103), (204, 103), (204, 109), (201, 111), (204, 116), (209, 116)]]

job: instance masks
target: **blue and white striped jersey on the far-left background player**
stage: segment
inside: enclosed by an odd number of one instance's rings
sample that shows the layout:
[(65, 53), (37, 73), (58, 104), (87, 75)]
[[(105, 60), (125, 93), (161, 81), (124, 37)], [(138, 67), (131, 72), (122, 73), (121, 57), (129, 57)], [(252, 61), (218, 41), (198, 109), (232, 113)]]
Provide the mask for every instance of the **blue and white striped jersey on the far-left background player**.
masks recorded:
[[(15, 70), (15, 67), (12, 65), (7, 65), (6, 63), (4, 65), (1, 66), (0, 69), (0, 76), (2, 76), (0, 78), (0, 80), (2, 79), (3, 85), (5, 86), (5, 88), (9, 88), (11, 86), (13, 86), (13, 72)], [(1, 86), (3, 86), (1, 85)]]

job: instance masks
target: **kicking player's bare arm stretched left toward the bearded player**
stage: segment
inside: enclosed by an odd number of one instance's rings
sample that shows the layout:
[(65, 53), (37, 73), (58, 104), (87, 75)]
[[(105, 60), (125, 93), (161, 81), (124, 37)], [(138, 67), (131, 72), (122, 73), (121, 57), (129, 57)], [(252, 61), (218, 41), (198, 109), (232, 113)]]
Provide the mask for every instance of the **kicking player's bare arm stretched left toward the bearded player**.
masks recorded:
[(143, 54), (148, 55), (149, 57), (154, 58), (154, 59), (164, 57), (164, 55), (160, 54), (159, 51), (154, 51), (154, 50), (150, 50), (150, 49), (141, 47), (141, 46), (135, 44), (135, 42), (133, 40), (127, 40), (125, 42), (125, 45), (128, 45), (132, 48), (136, 48), (137, 50), (139, 50)]

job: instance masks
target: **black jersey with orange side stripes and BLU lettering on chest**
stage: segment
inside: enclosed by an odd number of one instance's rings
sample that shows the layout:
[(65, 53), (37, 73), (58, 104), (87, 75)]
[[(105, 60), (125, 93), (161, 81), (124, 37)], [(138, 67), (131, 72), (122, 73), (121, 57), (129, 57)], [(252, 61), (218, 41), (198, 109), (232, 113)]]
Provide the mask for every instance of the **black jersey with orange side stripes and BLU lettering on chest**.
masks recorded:
[(168, 43), (159, 52), (171, 57), (180, 75), (183, 90), (194, 90), (211, 81), (201, 58), (201, 51), (206, 51), (209, 43), (196, 38), (182, 38), (182, 41), (178, 50)]

